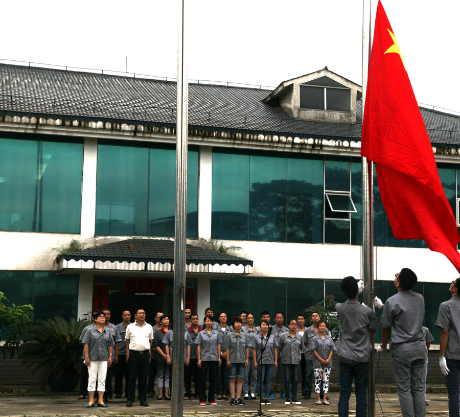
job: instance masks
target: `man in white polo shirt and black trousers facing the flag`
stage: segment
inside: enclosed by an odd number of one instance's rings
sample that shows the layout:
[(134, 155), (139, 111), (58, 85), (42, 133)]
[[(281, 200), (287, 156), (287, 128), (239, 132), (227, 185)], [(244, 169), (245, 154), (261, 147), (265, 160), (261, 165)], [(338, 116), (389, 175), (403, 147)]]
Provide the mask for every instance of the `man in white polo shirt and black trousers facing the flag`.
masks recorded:
[(135, 321), (126, 328), (126, 362), (129, 367), (129, 383), (127, 386), (128, 401), (131, 407), (135, 399), (136, 380), (139, 401), (144, 407), (147, 404), (147, 377), (149, 374), (150, 352), (152, 348), (153, 329), (145, 322), (145, 311), (137, 309)]

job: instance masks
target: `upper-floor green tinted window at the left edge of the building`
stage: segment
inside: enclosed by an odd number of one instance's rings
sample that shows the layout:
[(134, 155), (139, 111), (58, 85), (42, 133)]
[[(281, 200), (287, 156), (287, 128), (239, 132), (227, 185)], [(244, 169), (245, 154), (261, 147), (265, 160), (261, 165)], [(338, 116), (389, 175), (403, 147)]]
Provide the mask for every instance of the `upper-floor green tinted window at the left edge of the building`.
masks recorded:
[(83, 144), (0, 140), (0, 229), (80, 233)]

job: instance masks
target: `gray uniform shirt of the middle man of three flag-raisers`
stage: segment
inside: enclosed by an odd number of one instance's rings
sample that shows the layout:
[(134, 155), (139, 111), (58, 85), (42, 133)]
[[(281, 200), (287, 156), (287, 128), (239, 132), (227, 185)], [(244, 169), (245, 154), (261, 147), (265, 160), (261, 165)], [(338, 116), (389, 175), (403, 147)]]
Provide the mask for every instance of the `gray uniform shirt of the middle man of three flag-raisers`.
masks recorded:
[(381, 323), (384, 329), (392, 329), (392, 354), (426, 349), (422, 330), (424, 317), (425, 301), (412, 290), (399, 291), (386, 300)]

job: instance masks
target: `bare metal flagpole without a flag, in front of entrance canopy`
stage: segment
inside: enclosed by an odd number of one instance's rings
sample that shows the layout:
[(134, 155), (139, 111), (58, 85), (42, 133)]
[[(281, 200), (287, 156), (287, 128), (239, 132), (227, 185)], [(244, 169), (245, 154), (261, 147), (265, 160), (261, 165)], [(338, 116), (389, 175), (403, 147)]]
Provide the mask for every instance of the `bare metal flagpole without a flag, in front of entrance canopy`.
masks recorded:
[(178, 0), (177, 107), (176, 107), (176, 213), (174, 234), (174, 293), (171, 417), (183, 415), (183, 337), (185, 327), (186, 230), (187, 230), (187, 2)]

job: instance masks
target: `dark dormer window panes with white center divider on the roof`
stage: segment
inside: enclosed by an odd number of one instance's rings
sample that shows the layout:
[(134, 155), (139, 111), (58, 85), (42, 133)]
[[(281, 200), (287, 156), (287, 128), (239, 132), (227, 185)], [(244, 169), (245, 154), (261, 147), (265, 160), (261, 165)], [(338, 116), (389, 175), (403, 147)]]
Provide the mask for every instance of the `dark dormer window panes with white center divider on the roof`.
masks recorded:
[(319, 77), (299, 86), (300, 108), (350, 111), (351, 90), (329, 77)]

